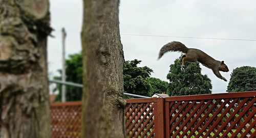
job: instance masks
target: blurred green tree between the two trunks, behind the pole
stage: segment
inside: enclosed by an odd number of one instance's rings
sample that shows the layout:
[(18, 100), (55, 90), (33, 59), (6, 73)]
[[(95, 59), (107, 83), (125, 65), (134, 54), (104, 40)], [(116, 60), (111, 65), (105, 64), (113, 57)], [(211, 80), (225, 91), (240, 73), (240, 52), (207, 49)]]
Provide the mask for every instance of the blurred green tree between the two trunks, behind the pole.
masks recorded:
[[(58, 70), (59, 74), (62, 73)], [(61, 80), (61, 76), (55, 76), (54, 79)], [(66, 60), (66, 81), (82, 84), (82, 54), (81, 52), (70, 54)], [(72, 86), (66, 86), (66, 100), (80, 101), (82, 97), (82, 89)], [(57, 85), (54, 91), (61, 92), (61, 85)], [(59, 93), (55, 101), (61, 101), (61, 93)]]

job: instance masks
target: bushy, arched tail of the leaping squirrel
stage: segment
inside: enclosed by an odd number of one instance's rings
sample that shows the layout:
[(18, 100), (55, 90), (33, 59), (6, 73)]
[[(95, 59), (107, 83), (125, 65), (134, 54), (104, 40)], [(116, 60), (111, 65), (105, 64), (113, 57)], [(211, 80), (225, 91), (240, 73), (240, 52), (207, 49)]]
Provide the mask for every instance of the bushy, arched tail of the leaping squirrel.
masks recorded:
[(186, 53), (187, 50), (188, 50), (188, 48), (184, 44), (182, 44), (181, 42), (173, 41), (173, 42), (165, 44), (160, 49), (158, 59), (160, 59), (163, 56), (163, 54), (168, 52), (168, 51), (180, 51), (180, 52)]

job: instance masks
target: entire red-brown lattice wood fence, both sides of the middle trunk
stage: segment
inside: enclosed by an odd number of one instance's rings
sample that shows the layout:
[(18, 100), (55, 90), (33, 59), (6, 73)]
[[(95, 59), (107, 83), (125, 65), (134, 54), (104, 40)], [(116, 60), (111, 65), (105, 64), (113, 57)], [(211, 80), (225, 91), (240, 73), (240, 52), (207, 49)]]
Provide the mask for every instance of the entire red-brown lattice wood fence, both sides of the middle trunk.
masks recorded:
[[(256, 91), (127, 99), (127, 137), (255, 137)], [(80, 137), (81, 102), (52, 103), (53, 137)]]

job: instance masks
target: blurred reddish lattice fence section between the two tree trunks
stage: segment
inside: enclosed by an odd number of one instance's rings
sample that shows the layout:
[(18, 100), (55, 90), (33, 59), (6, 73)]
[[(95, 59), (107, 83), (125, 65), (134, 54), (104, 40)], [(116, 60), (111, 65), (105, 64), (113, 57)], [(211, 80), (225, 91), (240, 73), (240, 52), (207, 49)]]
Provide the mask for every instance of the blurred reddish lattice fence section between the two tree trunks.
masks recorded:
[(52, 104), (52, 137), (81, 137), (81, 113), (81, 102)]

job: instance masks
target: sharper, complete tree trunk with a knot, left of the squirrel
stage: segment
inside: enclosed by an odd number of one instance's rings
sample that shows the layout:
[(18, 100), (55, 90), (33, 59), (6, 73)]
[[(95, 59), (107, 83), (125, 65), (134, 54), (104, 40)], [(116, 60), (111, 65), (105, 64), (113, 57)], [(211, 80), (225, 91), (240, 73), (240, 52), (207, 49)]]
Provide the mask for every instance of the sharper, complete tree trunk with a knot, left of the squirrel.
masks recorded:
[(119, 1), (83, 5), (82, 137), (125, 137)]

